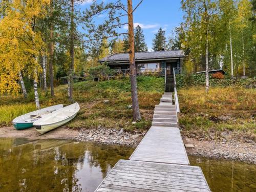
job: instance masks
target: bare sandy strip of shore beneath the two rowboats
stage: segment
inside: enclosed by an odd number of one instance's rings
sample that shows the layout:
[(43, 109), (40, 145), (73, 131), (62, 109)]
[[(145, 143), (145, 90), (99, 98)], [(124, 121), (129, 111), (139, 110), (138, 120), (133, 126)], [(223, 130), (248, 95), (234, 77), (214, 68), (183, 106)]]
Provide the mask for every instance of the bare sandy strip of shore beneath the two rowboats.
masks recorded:
[(1, 127), (0, 137), (14, 137), (27, 138), (29, 140), (36, 139), (74, 139), (78, 136), (78, 131), (67, 129), (66, 127), (59, 127), (44, 135), (39, 134), (34, 127), (26, 130), (16, 130), (13, 126)]

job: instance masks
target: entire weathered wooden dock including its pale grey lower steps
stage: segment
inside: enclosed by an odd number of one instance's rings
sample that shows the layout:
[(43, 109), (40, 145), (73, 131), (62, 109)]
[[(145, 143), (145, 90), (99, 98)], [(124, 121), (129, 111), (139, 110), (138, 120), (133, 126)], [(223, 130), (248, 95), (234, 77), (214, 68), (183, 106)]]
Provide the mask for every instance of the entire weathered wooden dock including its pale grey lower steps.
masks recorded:
[(189, 166), (171, 93), (155, 106), (152, 127), (129, 160), (119, 160), (95, 191), (210, 191), (201, 168)]

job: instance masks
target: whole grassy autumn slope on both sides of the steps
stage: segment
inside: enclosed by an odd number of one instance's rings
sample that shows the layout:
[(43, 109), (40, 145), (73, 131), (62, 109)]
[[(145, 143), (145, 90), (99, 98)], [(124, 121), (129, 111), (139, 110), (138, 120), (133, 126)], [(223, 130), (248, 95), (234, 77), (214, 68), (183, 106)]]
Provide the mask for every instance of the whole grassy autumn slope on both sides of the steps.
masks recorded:
[[(132, 124), (130, 79), (83, 81), (74, 84), (74, 100), (80, 105), (77, 117), (66, 126), (72, 129), (96, 127), (146, 130), (151, 126), (154, 106), (159, 103), (164, 88), (161, 77), (138, 77), (138, 97), (142, 120)], [(40, 93), (41, 107), (58, 103), (70, 104), (67, 85), (55, 88), (55, 97)], [(255, 140), (256, 90), (239, 87), (211, 87), (206, 95), (204, 87), (178, 89), (183, 135), (189, 137), (220, 138), (230, 131), (236, 137)], [(103, 103), (109, 100), (109, 103)], [(1, 96), (0, 126), (11, 125), (11, 120), (35, 110), (33, 92), (25, 100), (20, 96)]]

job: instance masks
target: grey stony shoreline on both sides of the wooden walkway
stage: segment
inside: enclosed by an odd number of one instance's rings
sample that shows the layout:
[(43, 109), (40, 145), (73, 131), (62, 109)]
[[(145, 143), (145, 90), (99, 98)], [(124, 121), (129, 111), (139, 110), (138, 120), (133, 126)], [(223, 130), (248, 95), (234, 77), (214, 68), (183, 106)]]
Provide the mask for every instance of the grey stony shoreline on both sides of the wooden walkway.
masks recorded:
[[(146, 134), (125, 132), (123, 129), (104, 129), (80, 130), (75, 138), (78, 141), (93, 141), (102, 144), (121, 144), (128, 146), (137, 146)], [(183, 138), (185, 144), (192, 144), (193, 147), (187, 147), (188, 155), (203, 156), (216, 159), (227, 159), (244, 161), (256, 164), (256, 144), (239, 142), (236, 139), (230, 139), (227, 142), (205, 141), (202, 139)]]

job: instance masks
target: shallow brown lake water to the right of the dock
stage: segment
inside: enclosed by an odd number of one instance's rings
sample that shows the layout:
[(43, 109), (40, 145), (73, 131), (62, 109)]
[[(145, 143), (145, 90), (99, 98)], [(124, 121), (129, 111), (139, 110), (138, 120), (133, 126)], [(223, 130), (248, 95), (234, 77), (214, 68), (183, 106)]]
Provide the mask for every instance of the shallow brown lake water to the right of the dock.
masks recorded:
[(212, 192), (256, 191), (256, 165), (193, 156), (189, 162), (202, 168)]

